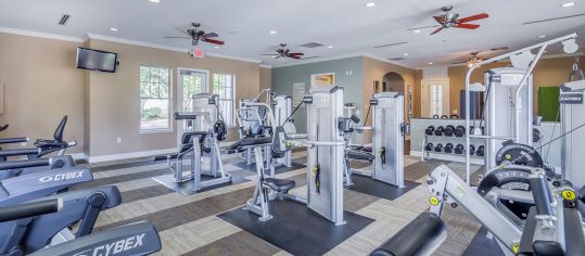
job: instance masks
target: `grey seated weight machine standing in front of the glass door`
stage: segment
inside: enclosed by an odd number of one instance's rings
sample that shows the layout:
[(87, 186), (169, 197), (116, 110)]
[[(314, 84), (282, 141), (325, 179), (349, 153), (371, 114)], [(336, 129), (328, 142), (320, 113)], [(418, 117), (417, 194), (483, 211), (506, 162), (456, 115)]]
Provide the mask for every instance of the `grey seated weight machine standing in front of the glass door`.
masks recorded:
[[(167, 156), (174, 182), (162, 182), (163, 184), (170, 189), (176, 189), (177, 185), (188, 187), (191, 193), (196, 193), (209, 187), (231, 182), (231, 175), (224, 170), (219, 153), (218, 141), (226, 139), (227, 127), (217, 107), (218, 98), (209, 93), (195, 94), (193, 112), (175, 113), (175, 119), (191, 120), (193, 128), (181, 136), (176, 161), (170, 163), (171, 156)], [(186, 162), (190, 165), (187, 176), (183, 174)], [(208, 179), (204, 180), (203, 177)]]

